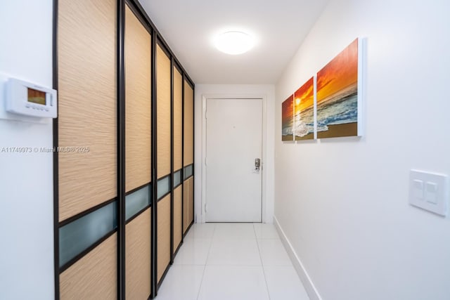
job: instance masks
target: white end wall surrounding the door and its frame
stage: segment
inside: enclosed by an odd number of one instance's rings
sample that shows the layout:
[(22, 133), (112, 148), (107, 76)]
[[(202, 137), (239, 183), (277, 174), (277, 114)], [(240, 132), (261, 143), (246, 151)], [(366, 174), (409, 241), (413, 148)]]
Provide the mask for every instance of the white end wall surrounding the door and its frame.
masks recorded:
[[(263, 221), (272, 223), (274, 216), (274, 102), (275, 86), (271, 84), (197, 84), (194, 97), (194, 168), (195, 168), (195, 218), (196, 222), (205, 222), (202, 206), (202, 157), (203, 157), (203, 119), (205, 112), (203, 96), (230, 98), (262, 97), (263, 107)], [(264, 214), (265, 210), (265, 214)]]

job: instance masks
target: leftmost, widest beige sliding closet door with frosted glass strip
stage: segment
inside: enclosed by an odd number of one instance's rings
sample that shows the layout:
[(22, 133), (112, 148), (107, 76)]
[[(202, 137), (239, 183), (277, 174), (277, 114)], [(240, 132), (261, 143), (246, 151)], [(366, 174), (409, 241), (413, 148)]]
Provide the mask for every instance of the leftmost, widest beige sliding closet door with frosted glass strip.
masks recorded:
[(58, 1), (60, 299), (117, 297), (117, 2)]

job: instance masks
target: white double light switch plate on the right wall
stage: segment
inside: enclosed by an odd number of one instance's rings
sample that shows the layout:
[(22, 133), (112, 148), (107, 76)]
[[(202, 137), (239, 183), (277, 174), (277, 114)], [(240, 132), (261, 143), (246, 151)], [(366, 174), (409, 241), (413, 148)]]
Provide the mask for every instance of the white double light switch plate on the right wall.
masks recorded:
[(427, 171), (410, 171), (409, 204), (446, 216), (448, 202), (448, 176)]

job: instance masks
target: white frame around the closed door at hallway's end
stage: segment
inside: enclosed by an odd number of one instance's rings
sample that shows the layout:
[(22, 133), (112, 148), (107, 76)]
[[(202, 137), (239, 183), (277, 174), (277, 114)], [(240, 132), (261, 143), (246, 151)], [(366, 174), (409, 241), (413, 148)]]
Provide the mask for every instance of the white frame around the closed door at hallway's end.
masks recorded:
[(261, 176), (262, 176), (262, 189), (261, 189), (261, 207), (262, 207), (262, 223), (266, 223), (271, 219), (266, 216), (267, 211), (267, 197), (266, 197), (266, 187), (267, 187), (267, 97), (261, 94), (203, 94), (202, 95), (202, 161), (201, 161), (201, 173), (202, 173), (202, 196), (200, 203), (200, 216), (197, 218), (197, 223), (206, 222), (206, 102), (207, 99), (262, 99), (262, 162), (261, 162)]

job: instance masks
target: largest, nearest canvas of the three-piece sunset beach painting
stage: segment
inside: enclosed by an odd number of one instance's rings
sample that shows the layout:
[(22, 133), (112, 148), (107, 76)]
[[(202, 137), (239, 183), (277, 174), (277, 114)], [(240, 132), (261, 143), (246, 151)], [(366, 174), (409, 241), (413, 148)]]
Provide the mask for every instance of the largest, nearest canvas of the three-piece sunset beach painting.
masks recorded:
[(359, 39), (317, 73), (317, 138), (359, 136)]

